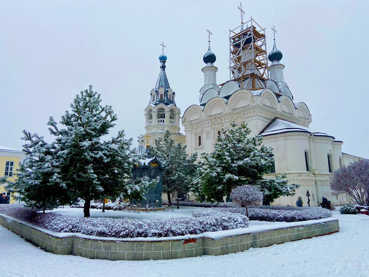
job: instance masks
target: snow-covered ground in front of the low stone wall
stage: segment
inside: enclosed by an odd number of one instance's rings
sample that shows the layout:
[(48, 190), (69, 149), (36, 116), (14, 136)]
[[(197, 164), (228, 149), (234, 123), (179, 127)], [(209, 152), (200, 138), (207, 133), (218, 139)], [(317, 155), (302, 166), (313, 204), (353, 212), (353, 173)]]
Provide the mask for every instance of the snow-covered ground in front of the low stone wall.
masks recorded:
[(224, 256), (106, 261), (46, 253), (0, 226), (0, 276), (369, 276), (369, 216), (340, 215), (341, 232)]

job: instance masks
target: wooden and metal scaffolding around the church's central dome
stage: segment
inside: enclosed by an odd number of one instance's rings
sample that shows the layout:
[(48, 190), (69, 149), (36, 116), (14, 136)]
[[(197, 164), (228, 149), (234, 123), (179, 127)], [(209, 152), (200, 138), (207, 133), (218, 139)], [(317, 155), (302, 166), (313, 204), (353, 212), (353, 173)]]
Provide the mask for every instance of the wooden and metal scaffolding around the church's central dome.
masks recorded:
[(269, 79), (265, 28), (251, 17), (230, 30), (229, 45), (230, 80), (240, 82), (241, 88), (265, 88)]

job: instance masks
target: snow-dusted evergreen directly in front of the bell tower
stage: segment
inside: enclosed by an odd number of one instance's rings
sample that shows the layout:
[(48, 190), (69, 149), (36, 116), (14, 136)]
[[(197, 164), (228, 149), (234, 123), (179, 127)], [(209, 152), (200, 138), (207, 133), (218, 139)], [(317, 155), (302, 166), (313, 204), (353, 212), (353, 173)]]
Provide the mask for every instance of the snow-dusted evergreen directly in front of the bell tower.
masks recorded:
[[(176, 174), (182, 173), (187, 178), (192, 178), (196, 173), (197, 165), (194, 162), (196, 161), (197, 153), (187, 157), (186, 147), (182, 143), (176, 144), (175, 140), (170, 138), (170, 133), (167, 130), (164, 138), (157, 138), (155, 146), (149, 148), (151, 155), (155, 156), (162, 164), (162, 191), (168, 195), (170, 205), (172, 204), (173, 194), (183, 190), (183, 188), (180, 188), (179, 183), (175, 182)], [(186, 186), (186, 184), (183, 185)]]

